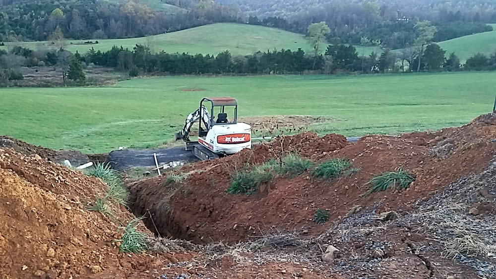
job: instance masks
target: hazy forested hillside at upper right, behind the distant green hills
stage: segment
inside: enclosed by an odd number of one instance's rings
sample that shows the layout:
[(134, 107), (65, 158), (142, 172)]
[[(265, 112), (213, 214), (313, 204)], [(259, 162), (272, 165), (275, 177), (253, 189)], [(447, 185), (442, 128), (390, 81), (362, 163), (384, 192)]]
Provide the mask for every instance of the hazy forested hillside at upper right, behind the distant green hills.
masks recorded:
[[(251, 24), (306, 34), (311, 23), (325, 21), (330, 43), (389, 49), (412, 46), (418, 19), (436, 26), (435, 42), (492, 31), (496, 0), (218, 0), (239, 7)], [(365, 39), (365, 40), (362, 40)]]

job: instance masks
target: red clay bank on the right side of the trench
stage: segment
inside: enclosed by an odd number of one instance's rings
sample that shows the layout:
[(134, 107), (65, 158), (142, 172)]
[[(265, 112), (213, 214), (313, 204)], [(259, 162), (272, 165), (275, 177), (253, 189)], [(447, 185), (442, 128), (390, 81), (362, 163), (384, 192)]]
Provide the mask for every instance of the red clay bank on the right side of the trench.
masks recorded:
[[(164, 186), (164, 177), (131, 185), (133, 211), (150, 211), (162, 235), (197, 243), (228, 243), (259, 237), (270, 230), (301, 231), (309, 235), (328, 229), (332, 222), (317, 225), (317, 209), (338, 221), (350, 210), (410, 210), (412, 203), (469, 174), (480, 172), (496, 154), (496, 114), (482, 115), (470, 124), (436, 133), (411, 133), (399, 137), (372, 135), (348, 145), (344, 137), (328, 135), (318, 139), (306, 133), (277, 139), (272, 146), (199, 162), (185, 168), (193, 172), (182, 185)], [(277, 154), (281, 142), (285, 152), (296, 151), (314, 161), (347, 158), (361, 171), (335, 181), (279, 177), (262, 185), (251, 196), (226, 193), (230, 174), (245, 164), (260, 164)], [(368, 181), (398, 167), (413, 173), (416, 181), (403, 192), (387, 190), (362, 198)], [(172, 196), (172, 198), (171, 198)], [(150, 226), (148, 226), (150, 227)]]

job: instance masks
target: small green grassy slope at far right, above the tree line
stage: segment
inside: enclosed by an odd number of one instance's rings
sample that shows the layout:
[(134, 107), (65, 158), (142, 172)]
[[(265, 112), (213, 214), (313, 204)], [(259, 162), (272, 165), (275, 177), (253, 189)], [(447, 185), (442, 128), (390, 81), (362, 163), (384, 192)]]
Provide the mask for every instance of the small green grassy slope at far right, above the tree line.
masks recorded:
[(496, 24), (490, 25), (494, 29), (492, 32), (464, 36), (438, 44), (446, 50), (446, 56), (454, 52), (462, 61), (477, 53), (494, 54), (496, 52)]

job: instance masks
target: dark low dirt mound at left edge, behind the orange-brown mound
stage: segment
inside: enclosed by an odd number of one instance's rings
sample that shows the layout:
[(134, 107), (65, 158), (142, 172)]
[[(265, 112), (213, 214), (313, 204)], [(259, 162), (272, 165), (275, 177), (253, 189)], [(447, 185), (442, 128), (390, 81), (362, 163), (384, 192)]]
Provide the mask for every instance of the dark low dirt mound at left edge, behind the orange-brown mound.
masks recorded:
[(38, 155), (54, 163), (62, 163), (64, 160), (69, 162), (75, 167), (88, 163), (90, 159), (87, 155), (78, 151), (71, 150), (52, 150), (42, 146), (32, 145), (21, 140), (11, 138), (8, 136), (0, 136), (0, 147), (12, 148), (18, 153), (23, 155)]

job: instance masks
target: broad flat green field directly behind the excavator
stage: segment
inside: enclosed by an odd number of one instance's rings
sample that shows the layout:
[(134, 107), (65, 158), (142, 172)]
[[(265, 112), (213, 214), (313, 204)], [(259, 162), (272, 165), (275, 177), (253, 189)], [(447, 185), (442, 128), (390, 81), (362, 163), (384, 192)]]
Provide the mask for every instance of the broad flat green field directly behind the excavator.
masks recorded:
[[(320, 134), (397, 134), (457, 126), (493, 108), (495, 72), (162, 77), (103, 88), (0, 89), (0, 134), (88, 153), (170, 140), (202, 97), (238, 99), (240, 116), (315, 115)], [(185, 89), (203, 91), (182, 91)]]

